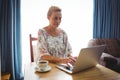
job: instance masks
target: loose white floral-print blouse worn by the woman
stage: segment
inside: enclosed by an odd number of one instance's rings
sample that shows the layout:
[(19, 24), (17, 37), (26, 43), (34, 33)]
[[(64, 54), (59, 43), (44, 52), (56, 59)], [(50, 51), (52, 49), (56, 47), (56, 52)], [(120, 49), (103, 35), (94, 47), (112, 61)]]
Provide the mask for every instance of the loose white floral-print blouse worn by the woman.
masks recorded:
[(47, 33), (45, 29), (39, 29), (37, 46), (40, 56), (47, 54), (59, 58), (65, 58), (72, 53), (67, 34), (64, 30), (60, 30), (60, 34), (53, 37)]

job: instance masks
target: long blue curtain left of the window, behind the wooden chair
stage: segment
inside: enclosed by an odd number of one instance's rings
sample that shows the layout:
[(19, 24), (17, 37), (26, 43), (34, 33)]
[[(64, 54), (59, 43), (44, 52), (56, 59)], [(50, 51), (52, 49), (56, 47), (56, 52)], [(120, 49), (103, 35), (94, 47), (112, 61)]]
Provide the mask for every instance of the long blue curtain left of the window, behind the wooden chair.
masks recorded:
[(1, 71), (22, 80), (20, 0), (0, 0)]

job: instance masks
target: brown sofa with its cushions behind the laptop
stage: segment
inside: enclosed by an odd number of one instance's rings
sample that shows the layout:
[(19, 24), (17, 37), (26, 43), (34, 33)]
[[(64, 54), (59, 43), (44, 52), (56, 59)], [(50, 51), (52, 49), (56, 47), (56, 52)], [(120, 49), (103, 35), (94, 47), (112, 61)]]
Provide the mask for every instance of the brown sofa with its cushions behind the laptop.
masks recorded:
[(106, 45), (100, 64), (120, 73), (120, 39), (91, 39), (88, 46)]

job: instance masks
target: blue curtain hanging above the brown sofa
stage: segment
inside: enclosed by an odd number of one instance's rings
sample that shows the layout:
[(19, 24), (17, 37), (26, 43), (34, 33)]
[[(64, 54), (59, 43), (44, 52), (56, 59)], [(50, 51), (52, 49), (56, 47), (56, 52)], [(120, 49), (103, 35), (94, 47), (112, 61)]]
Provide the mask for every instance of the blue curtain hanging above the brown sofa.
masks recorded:
[(94, 0), (93, 38), (120, 38), (120, 0)]

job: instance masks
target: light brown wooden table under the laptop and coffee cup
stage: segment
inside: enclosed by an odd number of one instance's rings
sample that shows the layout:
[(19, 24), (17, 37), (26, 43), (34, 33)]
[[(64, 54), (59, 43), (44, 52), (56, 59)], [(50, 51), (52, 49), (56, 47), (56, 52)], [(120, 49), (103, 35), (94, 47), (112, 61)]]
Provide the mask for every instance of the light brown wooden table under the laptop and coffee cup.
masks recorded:
[(49, 63), (51, 71), (46, 73), (35, 72), (35, 63), (25, 67), (24, 80), (120, 80), (120, 74), (104, 66), (97, 65), (91, 69), (75, 74), (68, 74)]

